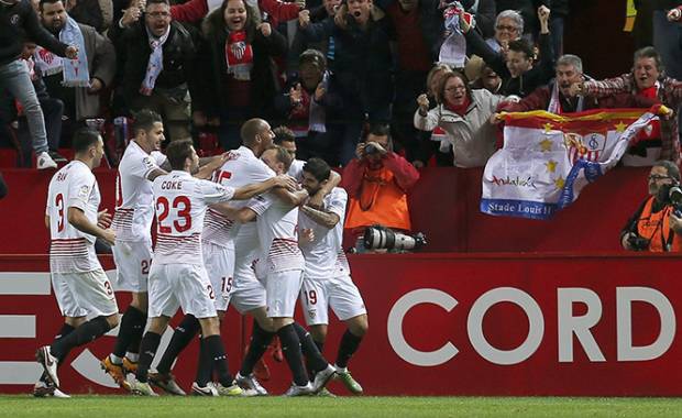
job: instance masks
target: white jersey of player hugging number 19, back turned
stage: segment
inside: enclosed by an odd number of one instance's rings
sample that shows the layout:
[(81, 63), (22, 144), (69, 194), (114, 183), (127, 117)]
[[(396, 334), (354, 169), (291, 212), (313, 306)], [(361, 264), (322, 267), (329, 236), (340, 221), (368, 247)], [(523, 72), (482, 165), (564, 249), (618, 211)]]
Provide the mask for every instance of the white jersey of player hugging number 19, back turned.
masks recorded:
[(264, 273), (302, 271), (305, 260), (298, 248), (298, 207), (292, 207), (273, 193), (267, 193), (251, 199), (249, 208), (258, 216), (260, 260), (265, 260), (264, 267), (267, 268)]

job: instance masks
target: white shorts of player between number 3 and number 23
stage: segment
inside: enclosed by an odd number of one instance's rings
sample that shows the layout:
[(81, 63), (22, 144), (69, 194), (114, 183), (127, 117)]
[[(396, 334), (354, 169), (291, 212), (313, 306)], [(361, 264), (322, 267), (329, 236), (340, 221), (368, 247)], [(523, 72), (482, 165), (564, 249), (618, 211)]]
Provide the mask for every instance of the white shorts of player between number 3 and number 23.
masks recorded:
[(147, 292), (147, 275), (152, 266), (151, 241), (117, 241), (111, 248), (117, 268), (117, 292)]

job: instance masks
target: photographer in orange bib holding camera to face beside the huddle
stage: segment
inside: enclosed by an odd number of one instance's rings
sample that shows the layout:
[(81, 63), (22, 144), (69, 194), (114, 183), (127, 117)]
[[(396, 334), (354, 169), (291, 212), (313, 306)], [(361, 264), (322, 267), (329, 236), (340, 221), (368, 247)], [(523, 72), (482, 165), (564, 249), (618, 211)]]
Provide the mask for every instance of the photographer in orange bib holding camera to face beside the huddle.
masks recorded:
[(351, 199), (344, 228), (354, 235), (374, 224), (410, 231), (407, 194), (418, 179), (419, 172), (393, 152), (388, 127), (372, 127), (343, 169), (341, 186)]

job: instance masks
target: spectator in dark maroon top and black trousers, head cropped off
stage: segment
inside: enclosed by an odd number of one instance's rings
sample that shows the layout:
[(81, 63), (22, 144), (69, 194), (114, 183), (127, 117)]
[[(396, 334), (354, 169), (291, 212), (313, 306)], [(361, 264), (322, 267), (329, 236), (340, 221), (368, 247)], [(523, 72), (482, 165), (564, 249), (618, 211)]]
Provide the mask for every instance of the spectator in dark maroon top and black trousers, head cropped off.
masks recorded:
[(397, 40), (396, 96), (393, 101), (392, 139), (404, 148), (408, 161), (417, 158), (420, 145), (411, 116), (415, 99), (426, 84), (432, 64), (438, 62), (443, 42), (443, 13), (438, 0), (398, 0), (386, 8), (392, 37)]

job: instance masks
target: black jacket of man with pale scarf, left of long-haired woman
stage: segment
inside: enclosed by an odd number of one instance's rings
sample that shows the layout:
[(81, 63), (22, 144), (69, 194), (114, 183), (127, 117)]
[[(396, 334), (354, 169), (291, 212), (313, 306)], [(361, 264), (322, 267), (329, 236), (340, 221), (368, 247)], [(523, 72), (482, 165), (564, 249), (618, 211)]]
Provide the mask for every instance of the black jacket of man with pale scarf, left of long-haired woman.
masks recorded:
[[(130, 28), (121, 29), (118, 22), (111, 25), (109, 37), (117, 50), (119, 62), (119, 82), (128, 103), (140, 96), (140, 87), (146, 75), (152, 48), (150, 47), (144, 20), (141, 18)], [(190, 95), (197, 92), (195, 74), (195, 41), (191, 34), (178, 22), (170, 22), (170, 33), (163, 46), (164, 68), (154, 88), (172, 90), (186, 85)]]

